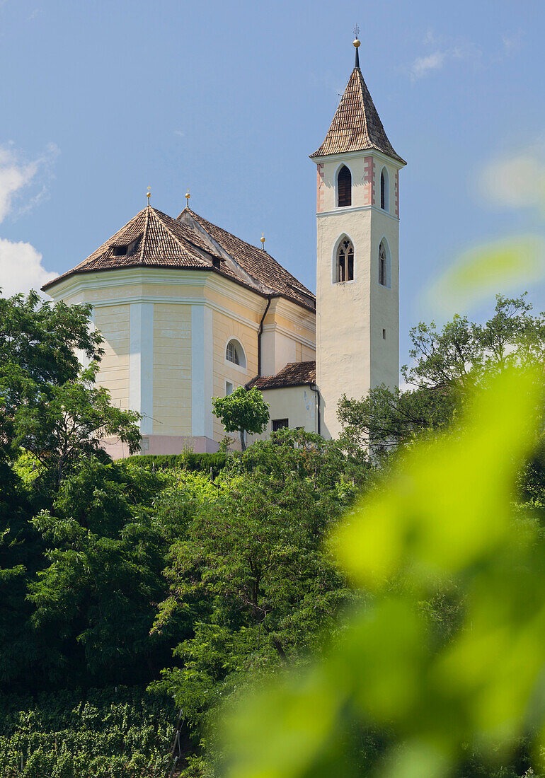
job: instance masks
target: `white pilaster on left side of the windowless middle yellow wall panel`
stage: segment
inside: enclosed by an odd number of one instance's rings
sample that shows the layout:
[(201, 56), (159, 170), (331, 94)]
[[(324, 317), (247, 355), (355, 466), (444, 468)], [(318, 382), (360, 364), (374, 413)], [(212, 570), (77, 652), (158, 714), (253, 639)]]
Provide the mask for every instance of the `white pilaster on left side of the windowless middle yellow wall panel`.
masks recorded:
[(153, 303), (131, 303), (128, 405), (142, 415), (140, 432), (153, 433)]

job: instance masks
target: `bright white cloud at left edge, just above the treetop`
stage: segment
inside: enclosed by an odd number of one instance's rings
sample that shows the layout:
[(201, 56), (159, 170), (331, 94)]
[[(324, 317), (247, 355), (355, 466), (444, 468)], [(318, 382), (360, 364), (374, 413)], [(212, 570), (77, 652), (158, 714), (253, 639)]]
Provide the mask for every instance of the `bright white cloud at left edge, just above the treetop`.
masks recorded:
[(9, 297), (30, 289), (40, 289), (57, 277), (41, 264), (42, 255), (31, 244), (0, 238), (0, 288)]

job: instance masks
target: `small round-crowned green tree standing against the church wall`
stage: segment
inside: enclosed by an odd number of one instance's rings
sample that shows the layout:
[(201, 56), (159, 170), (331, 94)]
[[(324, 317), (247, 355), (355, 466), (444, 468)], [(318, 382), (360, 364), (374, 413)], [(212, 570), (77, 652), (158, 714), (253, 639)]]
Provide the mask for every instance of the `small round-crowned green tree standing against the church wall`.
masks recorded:
[(250, 390), (237, 387), (227, 397), (213, 398), (212, 405), (214, 415), (220, 419), (226, 432), (240, 434), (243, 451), (246, 449), (244, 433), (259, 435), (269, 421), (269, 406), (256, 387)]

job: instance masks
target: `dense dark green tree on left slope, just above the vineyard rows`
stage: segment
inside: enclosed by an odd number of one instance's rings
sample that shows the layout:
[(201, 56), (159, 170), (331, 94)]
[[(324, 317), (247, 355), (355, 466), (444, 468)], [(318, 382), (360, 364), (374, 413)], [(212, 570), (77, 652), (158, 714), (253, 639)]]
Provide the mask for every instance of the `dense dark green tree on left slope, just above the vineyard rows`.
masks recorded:
[[(49, 647), (42, 672), (69, 684), (142, 682), (167, 660), (171, 633), (149, 637), (172, 537), (153, 517), (167, 475), (82, 459), (55, 505), (33, 519), (44, 569), (31, 581), (31, 624)], [(174, 622), (173, 622), (174, 623)], [(179, 639), (179, 633), (176, 633)]]

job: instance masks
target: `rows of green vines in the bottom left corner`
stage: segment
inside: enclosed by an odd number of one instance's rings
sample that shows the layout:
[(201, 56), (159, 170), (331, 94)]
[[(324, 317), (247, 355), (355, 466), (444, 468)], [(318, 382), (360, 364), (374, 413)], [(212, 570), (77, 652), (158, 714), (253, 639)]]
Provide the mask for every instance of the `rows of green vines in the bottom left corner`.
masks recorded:
[(164, 778), (175, 718), (142, 687), (2, 697), (0, 778)]

